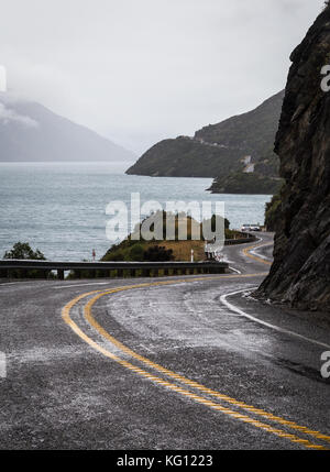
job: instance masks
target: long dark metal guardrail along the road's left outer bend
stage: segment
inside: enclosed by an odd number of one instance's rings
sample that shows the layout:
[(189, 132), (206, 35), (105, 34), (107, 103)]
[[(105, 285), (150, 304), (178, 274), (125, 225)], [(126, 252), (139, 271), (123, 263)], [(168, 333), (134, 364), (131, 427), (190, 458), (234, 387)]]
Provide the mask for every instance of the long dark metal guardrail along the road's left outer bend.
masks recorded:
[[(40, 271), (40, 274), (47, 277), (52, 271), (57, 272), (57, 278), (64, 279), (65, 271), (74, 271), (77, 278), (82, 271), (88, 271), (88, 277), (108, 276), (123, 277), (129, 275), (135, 276), (158, 276), (160, 271), (163, 275), (182, 275), (182, 274), (223, 274), (229, 268), (226, 262), (206, 261), (206, 262), (66, 262), (66, 261), (28, 261), (7, 259), (0, 261), (0, 277), (10, 278), (14, 271), (28, 272), (31, 270)], [(116, 272), (113, 274), (113, 271)], [(169, 274), (172, 272), (172, 274)], [(82, 274), (81, 274), (82, 273)]]

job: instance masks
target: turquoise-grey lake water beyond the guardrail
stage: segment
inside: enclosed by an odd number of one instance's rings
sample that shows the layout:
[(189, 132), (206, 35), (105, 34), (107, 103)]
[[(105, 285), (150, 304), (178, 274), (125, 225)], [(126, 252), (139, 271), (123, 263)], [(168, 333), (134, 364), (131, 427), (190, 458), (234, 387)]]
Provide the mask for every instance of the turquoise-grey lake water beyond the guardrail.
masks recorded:
[(48, 260), (101, 257), (114, 241), (106, 237), (110, 201), (224, 201), (231, 228), (263, 223), (270, 195), (211, 195), (210, 178), (155, 178), (117, 173), (107, 163), (0, 163), (0, 259), (18, 241)]

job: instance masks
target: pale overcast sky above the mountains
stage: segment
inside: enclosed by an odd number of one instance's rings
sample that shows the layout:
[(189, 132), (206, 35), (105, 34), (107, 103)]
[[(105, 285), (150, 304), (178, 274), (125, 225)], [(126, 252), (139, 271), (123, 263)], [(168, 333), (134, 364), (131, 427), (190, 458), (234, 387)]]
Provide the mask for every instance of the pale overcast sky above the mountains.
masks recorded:
[(323, 0), (0, 0), (8, 87), (141, 154), (284, 88)]

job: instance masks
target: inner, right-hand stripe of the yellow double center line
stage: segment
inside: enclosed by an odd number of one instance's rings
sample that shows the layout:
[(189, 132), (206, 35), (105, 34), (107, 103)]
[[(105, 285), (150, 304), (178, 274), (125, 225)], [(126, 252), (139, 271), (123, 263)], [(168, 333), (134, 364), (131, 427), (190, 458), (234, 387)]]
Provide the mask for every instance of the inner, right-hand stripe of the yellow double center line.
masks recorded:
[[(154, 283), (152, 285), (157, 285), (161, 283)], [(134, 286), (133, 286), (134, 287)], [(138, 286), (136, 286), (138, 287)], [(120, 288), (117, 288), (117, 292), (120, 292)], [(112, 292), (110, 292), (112, 293)], [(317, 439), (321, 439), (321, 440), (326, 440), (330, 442), (330, 436), (323, 435), (319, 431), (315, 431), (312, 429), (309, 429), (305, 426), (300, 426), (294, 421), (284, 419), (279, 416), (270, 414), (261, 408), (255, 408), (252, 405), (248, 405), (244, 402), (240, 402), (237, 400), (228, 395), (221, 394), (217, 391), (213, 391), (211, 388), (206, 387), (205, 385), (199, 384), (198, 382), (191, 381), (189, 378), (184, 377), (183, 375), (177, 374), (176, 372), (173, 372), (168, 369), (163, 367), (162, 365), (152, 362), (151, 360), (148, 360), (147, 358), (144, 358), (143, 355), (138, 354), (135, 351), (131, 350), (130, 348), (128, 348), (127, 345), (124, 345), (122, 342), (120, 342), (119, 340), (117, 340), (113, 336), (111, 336), (108, 331), (106, 331), (97, 321), (96, 319), (92, 317), (91, 315), (91, 307), (94, 306), (94, 304), (101, 297), (103, 297), (105, 295), (108, 295), (109, 293), (101, 293), (97, 296), (95, 296), (94, 298), (91, 298), (88, 304), (85, 306), (85, 317), (87, 319), (87, 321), (106, 339), (108, 339), (112, 344), (114, 344), (118, 349), (120, 349), (122, 352), (124, 352), (125, 354), (129, 354), (130, 356), (132, 356), (133, 359), (144, 363), (145, 365), (172, 377), (175, 378), (186, 385), (189, 385), (190, 387), (194, 387), (200, 392), (207, 393), (211, 396), (215, 396), (223, 402), (227, 402), (229, 404), (235, 405), (244, 410), (248, 410), (250, 413), (253, 413), (255, 415), (262, 416), (264, 418), (267, 418), (268, 420), (272, 420), (274, 422), (280, 424), (283, 426), (289, 427), (292, 429), (295, 429), (297, 431), (304, 432), (306, 435), (310, 435)]]

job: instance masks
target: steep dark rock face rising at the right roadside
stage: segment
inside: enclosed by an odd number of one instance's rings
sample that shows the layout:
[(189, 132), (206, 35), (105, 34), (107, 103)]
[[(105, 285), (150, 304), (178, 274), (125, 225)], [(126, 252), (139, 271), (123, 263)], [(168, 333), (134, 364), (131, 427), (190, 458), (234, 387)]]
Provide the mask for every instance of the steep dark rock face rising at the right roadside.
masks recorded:
[(275, 152), (285, 179), (274, 264), (256, 295), (330, 311), (330, 8), (292, 54)]

